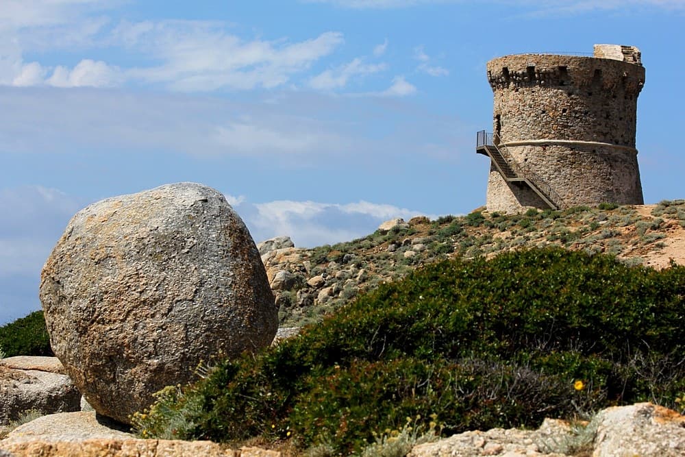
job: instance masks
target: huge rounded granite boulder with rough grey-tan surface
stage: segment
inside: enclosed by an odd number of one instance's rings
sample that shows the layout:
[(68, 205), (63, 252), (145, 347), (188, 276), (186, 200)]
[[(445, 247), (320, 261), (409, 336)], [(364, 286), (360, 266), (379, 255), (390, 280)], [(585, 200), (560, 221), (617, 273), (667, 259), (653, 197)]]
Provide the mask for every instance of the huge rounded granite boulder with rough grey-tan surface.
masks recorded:
[(89, 404), (127, 423), (201, 360), (268, 346), (277, 309), (226, 199), (192, 183), (79, 211), (42, 270), (55, 355)]

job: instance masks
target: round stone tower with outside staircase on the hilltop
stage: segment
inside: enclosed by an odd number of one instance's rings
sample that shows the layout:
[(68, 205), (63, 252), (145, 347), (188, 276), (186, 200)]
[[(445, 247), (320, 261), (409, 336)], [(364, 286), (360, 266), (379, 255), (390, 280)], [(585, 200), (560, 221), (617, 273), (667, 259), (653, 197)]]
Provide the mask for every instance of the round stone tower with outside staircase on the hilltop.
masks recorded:
[(635, 127), (645, 83), (635, 47), (595, 45), (593, 57), (506, 55), (488, 62), (495, 93), (490, 211), (643, 204)]

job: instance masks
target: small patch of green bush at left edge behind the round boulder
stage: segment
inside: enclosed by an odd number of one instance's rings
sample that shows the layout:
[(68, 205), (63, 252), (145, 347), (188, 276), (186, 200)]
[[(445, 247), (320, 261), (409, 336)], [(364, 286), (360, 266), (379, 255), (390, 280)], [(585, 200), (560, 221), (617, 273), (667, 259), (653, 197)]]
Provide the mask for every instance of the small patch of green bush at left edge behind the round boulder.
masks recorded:
[(0, 347), (5, 356), (52, 356), (42, 311), (0, 327)]

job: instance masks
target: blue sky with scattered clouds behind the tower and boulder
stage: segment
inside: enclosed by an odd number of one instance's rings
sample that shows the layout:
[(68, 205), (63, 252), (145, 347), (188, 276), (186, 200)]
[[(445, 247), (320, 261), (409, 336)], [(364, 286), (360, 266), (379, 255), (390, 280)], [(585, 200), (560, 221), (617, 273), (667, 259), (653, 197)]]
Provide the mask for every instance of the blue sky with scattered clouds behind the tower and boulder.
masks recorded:
[(685, 0), (0, 0), (0, 323), (88, 203), (223, 192), (257, 242), (485, 201), (486, 62), (634, 45), (645, 201), (685, 197)]

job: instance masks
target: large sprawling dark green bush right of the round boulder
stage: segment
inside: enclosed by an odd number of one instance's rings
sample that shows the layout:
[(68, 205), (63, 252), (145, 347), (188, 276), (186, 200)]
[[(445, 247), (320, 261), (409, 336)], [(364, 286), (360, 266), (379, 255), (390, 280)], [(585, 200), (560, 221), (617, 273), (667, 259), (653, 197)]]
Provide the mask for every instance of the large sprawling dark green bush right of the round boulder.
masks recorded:
[(562, 249), (439, 262), (297, 338), (218, 362), (134, 424), (145, 436), (294, 439), (347, 455), (406, 417), (427, 429), (434, 415), (452, 434), (625, 402), (673, 406), (685, 391), (684, 296), (685, 267)]

